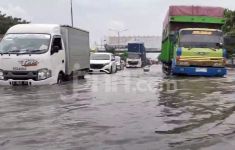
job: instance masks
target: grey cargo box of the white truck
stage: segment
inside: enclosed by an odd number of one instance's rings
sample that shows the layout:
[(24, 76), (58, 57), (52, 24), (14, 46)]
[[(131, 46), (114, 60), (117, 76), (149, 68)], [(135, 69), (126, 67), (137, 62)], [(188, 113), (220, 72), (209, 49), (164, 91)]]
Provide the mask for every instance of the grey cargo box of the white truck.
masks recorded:
[(89, 32), (62, 26), (61, 33), (66, 50), (65, 73), (90, 68)]

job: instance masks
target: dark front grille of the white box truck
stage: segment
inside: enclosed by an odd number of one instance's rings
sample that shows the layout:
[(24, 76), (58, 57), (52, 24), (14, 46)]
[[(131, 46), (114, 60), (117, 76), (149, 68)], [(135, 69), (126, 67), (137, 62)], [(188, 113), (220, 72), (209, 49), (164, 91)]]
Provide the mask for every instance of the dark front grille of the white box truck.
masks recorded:
[(4, 80), (29, 80), (34, 81), (38, 80), (37, 71), (4, 71), (3, 72)]

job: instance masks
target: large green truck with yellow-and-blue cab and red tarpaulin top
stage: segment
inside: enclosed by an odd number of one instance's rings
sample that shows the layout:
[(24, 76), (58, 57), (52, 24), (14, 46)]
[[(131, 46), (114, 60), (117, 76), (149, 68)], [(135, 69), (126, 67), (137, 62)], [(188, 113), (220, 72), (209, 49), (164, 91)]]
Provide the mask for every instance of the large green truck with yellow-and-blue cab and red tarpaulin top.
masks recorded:
[(163, 25), (159, 57), (167, 75), (224, 76), (225, 23), (221, 7), (170, 6)]

